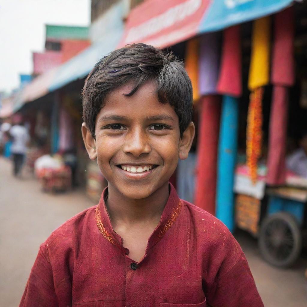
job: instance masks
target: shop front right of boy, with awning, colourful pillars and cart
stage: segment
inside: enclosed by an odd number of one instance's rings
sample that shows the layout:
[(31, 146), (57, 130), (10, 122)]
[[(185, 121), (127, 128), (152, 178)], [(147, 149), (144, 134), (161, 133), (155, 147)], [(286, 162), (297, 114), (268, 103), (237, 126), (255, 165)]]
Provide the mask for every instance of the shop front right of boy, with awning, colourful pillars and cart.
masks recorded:
[(259, 237), (270, 263), (290, 265), (306, 226), (306, 178), (286, 163), (305, 130), (306, 4), (160, 4), (130, 13), (119, 46), (144, 42), (185, 62), (198, 133), (191, 158), (178, 165), (177, 191), (231, 231)]

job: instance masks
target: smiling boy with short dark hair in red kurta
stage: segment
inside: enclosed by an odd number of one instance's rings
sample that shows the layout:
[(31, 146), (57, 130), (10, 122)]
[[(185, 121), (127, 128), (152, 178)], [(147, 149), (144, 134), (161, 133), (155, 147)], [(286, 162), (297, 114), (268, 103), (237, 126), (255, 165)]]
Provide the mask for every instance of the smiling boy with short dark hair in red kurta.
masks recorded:
[(108, 188), (41, 245), (20, 306), (263, 306), (227, 228), (168, 182), (195, 133), (182, 64), (144, 44), (115, 50), (83, 107)]

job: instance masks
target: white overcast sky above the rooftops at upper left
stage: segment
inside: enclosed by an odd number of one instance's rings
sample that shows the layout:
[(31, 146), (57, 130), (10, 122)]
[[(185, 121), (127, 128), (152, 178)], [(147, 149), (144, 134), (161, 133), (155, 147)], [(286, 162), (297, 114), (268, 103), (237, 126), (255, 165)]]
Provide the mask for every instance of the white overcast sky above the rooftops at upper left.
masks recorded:
[(31, 74), (32, 52), (45, 48), (45, 24), (90, 24), (91, 0), (0, 0), (0, 91)]

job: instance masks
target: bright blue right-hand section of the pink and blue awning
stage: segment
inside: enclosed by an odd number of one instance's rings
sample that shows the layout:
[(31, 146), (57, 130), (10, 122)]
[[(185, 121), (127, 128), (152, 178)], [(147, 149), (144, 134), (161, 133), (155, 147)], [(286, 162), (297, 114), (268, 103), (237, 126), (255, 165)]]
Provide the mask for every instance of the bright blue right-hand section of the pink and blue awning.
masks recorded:
[(199, 33), (218, 31), (231, 25), (276, 13), (293, 0), (213, 0), (199, 25)]

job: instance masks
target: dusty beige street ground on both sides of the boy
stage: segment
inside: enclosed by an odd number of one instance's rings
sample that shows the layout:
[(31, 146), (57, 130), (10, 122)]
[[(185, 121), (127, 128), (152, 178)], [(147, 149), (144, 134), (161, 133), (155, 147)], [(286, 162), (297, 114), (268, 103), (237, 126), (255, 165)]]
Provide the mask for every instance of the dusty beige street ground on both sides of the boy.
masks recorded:
[[(56, 227), (93, 203), (82, 190), (43, 193), (39, 182), (26, 172), (23, 179), (14, 178), (10, 161), (2, 157), (0, 174), (0, 306), (16, 307), (39, 245)], [(292, 269), (276, 269), (262, 261), (255, 239), (242, 231), (235, 236), (265, 306), (307, 306), (306, 257)]]

